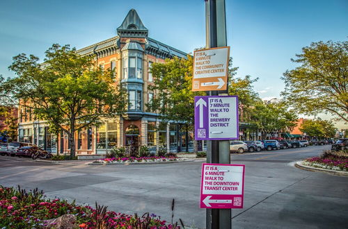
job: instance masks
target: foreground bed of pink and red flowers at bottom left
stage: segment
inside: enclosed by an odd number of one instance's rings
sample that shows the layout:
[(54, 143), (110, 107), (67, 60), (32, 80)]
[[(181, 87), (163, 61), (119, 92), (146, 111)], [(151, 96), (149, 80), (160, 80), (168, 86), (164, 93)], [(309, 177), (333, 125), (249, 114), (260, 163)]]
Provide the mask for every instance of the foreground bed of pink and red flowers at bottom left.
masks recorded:
[(96, 208), (68, 203), (59, 198), (45, 199), (43, 192), (0, 186), (0, 226), (1, 228), (51, 228), (48, 219), (55, 219), (65, 214), (76, 217), (76, 228), (180, 228), (154, 214), (121, 214), (106, 211), (106, 207)]

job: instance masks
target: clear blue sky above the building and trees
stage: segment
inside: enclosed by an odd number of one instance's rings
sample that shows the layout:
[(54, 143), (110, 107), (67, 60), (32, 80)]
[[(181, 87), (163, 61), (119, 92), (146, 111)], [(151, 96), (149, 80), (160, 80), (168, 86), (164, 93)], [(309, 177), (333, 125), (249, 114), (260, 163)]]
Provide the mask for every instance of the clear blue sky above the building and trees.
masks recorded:
[[(203, 0), (1, 1), (0, 74), (19, 53), (44, 57), (54, 43), (77, 49), (116, 35), (134, 8), (149, 36), (187, 53), (205, 46)], [(347, 0), (226, 0), (228, 45), (237, 76), (258, 77), (261, 98), (279, 97), (283, 72), (303, 46), (342, 41), (348, 35)]]

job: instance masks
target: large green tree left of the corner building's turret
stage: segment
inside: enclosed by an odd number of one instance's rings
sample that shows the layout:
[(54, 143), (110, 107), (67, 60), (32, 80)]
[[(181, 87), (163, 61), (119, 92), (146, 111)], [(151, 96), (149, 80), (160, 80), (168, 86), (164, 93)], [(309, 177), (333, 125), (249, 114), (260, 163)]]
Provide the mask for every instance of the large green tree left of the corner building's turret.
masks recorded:
[(51, 129), (67, 133), (74, 157), (74, 133), (97, 124), (100, 117), (120, 115), (127, 96), (113, 82), (113, 72), (95, 67), (93, 57), (79, 56), (76, 49), (58, 44), (45, 54), (42, 64), (33, 55), (15, 56), (9, 69), (17, 77), (8, 79), (3, 88), (38, 119), (47, 120)]

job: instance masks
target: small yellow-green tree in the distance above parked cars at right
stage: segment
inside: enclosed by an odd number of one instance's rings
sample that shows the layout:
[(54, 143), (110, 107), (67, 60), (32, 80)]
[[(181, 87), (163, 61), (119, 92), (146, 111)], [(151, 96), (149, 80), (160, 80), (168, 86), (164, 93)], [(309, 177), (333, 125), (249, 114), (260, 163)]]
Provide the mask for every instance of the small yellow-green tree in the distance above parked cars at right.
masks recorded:
[(299, 130), (310, 137), (324, 138), (335, 137), (337, 128), (332, 121), (322, 119), (304, 119)]

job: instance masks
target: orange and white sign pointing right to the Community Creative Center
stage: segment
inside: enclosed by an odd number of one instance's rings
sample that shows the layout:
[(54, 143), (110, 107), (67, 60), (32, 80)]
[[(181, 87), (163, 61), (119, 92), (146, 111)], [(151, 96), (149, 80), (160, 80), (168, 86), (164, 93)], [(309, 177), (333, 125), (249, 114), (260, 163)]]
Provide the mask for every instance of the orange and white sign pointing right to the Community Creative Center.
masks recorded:
[(229, 46), (194, 51), (192, 91), (227, 90), (229, 56)]

